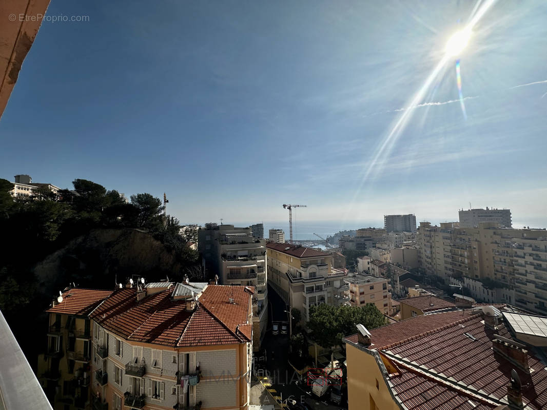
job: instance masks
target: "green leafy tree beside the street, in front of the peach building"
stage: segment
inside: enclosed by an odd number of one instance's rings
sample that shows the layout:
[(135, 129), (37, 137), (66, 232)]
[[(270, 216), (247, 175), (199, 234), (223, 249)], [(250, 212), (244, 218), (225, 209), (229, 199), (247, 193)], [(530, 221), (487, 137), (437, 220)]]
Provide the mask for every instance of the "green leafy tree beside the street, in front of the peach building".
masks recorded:
[(363, 307), (344, 304), (331, 306), (323, 303), (311, 308), (308, 327), (312, 331), (313, 339), (330, 350), (331, 366), (334, 367), (334, 348), (342, 345), (342, 337), (355, 333), (359, 323), (370, 330), (386, 325), (387, 319), (373, 303), (367, 303)]

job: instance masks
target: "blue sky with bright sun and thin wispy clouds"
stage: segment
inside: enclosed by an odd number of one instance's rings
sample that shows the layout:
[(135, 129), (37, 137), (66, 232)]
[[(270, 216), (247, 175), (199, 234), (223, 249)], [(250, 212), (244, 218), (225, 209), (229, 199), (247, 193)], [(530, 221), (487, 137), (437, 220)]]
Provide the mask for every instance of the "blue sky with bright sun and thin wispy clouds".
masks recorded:
[[(166, 192), (183, 223), (547, 227), (547, 3), (52, 0), (0, 119), (0, 178)], [(461, 67), (458, 95), (456, 59)], [(422, 90), (422, 92), (419, 92)], [(358, 226), (356, 222), (356, 227)]]

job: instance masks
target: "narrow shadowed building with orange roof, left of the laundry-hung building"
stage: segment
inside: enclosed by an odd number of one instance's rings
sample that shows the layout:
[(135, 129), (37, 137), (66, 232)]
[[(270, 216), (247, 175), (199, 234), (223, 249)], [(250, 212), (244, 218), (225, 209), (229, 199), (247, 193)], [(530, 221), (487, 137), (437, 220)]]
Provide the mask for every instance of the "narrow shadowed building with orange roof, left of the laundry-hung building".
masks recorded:
[(90, 408), (92, 327), (89, 313), (110, 290), (67, 288), (48, 313), (47, 345), (37, 376), (56, 410)]

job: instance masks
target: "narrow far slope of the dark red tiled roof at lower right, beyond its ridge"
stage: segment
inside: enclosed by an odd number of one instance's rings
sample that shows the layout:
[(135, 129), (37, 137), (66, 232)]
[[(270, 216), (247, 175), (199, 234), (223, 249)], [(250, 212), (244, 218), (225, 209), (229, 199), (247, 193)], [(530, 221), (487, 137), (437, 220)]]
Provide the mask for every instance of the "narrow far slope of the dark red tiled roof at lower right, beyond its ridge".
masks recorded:
[[(376, 329), (369, 330), (373, 342), (371, 348), (383, 349), (388, 345), (399, 343), (410, 337), (439, 329), (442, 326), (450, 325), (462, 319), (469, 318), (470, 315), (476, 314), (476, 312), (469, 310), (432, 313), (400, 320), (397, 323), (390, 325), (376, 327)], [(357, 343), (357, 333), (346, 337), (346, 340), (351, 343)]]

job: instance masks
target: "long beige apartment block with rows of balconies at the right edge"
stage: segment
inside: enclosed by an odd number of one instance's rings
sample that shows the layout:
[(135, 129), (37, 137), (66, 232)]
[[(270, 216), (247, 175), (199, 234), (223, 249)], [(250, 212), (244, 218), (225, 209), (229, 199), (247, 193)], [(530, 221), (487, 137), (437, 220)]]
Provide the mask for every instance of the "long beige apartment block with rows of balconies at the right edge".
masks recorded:
[[(547, 231), (502, 228), (498, 222), (479, 222), (476, 228), (451, 225), (420, 223), (417, 242), (421, 266), (427, 273), (437, 274), (447, 283), (454, 278), (466, 283), (464, 278), (490, 279), (497, 288), (515, 291), (513, 301), (511, 292), (490, 289), (503, 296), (496, 303), (547, 312)], [(486, 290), (488, 296), (490, 290)], [(481, 291), (476, 290), (474, 296), (480, 296)]]

